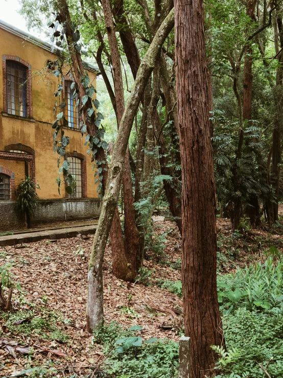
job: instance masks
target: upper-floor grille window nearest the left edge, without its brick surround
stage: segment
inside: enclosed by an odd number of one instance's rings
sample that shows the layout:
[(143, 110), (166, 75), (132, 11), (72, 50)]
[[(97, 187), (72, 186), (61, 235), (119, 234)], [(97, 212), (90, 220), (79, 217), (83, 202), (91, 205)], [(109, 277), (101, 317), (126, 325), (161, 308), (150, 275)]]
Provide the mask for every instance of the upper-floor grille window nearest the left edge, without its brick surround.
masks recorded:
[(7, 113), (27, 117), (27, 68), (7, 60)]

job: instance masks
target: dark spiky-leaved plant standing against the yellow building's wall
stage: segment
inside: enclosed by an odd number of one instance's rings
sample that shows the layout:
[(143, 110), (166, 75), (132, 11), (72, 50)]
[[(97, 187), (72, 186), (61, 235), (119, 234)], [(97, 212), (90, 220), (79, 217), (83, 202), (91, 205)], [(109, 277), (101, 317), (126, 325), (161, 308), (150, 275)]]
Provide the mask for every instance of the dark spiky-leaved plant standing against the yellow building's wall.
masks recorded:
[(39, 185), (34, 180), (27, 176), (21, 180), (15, 190), (16, 194), (16, 210), (25, 217), (28, 228), (31, 228), (32, 216), (36, 211), (38, 204), (38, 195), (36, 189), (40, 189)]

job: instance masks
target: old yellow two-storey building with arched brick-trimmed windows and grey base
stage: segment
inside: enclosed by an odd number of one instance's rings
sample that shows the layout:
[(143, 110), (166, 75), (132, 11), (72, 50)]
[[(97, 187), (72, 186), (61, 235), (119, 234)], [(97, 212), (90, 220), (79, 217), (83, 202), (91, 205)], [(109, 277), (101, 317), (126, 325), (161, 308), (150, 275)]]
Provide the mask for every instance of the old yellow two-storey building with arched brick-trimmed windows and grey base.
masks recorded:
[[(69, 173), (76, 188), (68, 195), (58, 177), (58, 154), (53, 152), (53, 108), (58, 78), (42, 70), (56, 56), (51, 45), (0, 21), (0, 231), (25, 227), (14, 211), (15, 187), (30, 175), (40, 186), (40, 198), (33, 223), (55, 219), (84, 219), (99, 215), (100, 201), (87, 147), (79, 130), (73, 99), (72, 78), (65, 76), (63, 96), (69, 136)], [(95, 86), (98, 71), (85, 64)], [(3, 217), (2, 215), (6, 216)]]

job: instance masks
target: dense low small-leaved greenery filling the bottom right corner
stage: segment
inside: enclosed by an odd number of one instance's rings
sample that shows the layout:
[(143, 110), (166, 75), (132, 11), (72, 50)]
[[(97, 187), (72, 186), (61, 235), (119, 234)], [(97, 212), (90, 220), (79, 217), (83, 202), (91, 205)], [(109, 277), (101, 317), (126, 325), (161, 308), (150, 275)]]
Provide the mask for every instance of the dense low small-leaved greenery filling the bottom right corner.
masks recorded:
[[(265, 312), (239, 308), (224, 317), (223, 327), (227, 352), (213, 347), (220, 354), (217, 367), (222, 370), (217, 378), (260, 378), (266, 376), (263, 369), (270, 361), (267, 371), (272, 378), (283, 374), (283, 311)], [(271, 359), (272, 358), (272, 359)]]

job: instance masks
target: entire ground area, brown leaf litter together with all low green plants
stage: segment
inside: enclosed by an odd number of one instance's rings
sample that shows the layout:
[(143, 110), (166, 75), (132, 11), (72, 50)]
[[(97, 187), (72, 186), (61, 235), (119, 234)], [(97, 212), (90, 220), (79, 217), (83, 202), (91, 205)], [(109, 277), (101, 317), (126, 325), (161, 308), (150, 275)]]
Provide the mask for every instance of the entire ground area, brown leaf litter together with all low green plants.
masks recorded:
[[(218, 220), (222, 242), (219, 253), (225, 254), (226, 247), (239, 251), (228, 255), (226, 265), (219, 264), (219, 304), (227, 352), (217, 349), (220, 370), (216, 374), (222, 378), (264, 377), (259, 365), (266, 368), (268, 364), (270, 376), (279, 378), (283, 338), (280, 228), (275, 232), (253, 230), (248, 237), (235, 238), (226, 229), (226, 222)], [(85, 331), (86, 288), (82, 281), (87, 269), (83, 257), (88, 254), (91, 238), (2, 248), (1, 264), (12, 259), (14, 280), (21, 290), (14, 290), (13, 312), (1, 313), (0, 338), (17, 342), (14, 348), (29, 348), (29, 353), (15, 349), (19, 366), (9, 367), (14, 357), (4, 345), (0, 347), (5, 366), (1, 374), (27, 371), (32, 377), (75, 378), (91, 376), (97, 369), (98, 377), (130, 378), (139, 376), (139, 371), (148, 376), (177, 377), (177, 342), (183, 332), (180, 249), (176, 248), (180, 242), (171, 221), (153, 223), (153, 231), (166, 234), (163, 254), (149, 250), (140, 278), (133, 284), (126, 285), (112, 275), (110, 250), (107, 253), (106, 322), (93, 335)], [(263, 246), (260, 253), (258, 241)], [(71, 268), (67, 268), (69, 262)], [(237, 290), (241, 292), (239, 298)], [(137, 329), (129, 330), (133, 325)], [(131, 342), (124, 351), (125, 338)], [(153, 342), (147, 344), (145, 341), (150, 339)], [(136, 349), (132, 345), (135, 342)], [(119, 347), (123, 353), (118, 352)]]

